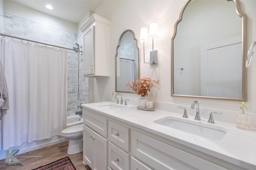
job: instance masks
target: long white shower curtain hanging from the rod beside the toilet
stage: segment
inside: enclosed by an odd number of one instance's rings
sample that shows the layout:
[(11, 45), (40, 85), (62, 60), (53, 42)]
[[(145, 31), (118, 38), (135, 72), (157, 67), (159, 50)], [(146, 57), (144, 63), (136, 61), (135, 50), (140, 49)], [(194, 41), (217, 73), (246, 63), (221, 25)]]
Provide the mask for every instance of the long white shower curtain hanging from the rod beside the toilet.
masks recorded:
[(0, 122), (0, 149), (61, 135), (66, 127), (66, 50), (16, 39), (5, 40), (4, 49), (0, 59), (10, 109)]

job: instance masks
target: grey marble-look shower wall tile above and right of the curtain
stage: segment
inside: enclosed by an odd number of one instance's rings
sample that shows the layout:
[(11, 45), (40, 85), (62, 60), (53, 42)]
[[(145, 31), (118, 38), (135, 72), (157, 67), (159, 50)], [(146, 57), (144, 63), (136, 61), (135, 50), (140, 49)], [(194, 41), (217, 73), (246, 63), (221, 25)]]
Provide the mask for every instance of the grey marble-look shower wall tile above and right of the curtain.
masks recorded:
[[(1, 8), (1, 7), (0, 7)], [(4, 28), (2, 30), (2, 16), (4, 16)], [(24, 39), (30, 39), (42, 43), (73, 49), (76, 43), (82, 46), (82, 33), (72, 33), (41, 23), (26, 20), (17, 16), (1, 12), (1, 33)], [(74, 115), (78, 104), (89, 102), (89, 79), (82, 76), (82, 57), (80, 55), (80, 100), (78, 101), (78, 53), (68, 51), (67, 57), (67, 82), (68, 82), (68, 108), (67, 115)]]

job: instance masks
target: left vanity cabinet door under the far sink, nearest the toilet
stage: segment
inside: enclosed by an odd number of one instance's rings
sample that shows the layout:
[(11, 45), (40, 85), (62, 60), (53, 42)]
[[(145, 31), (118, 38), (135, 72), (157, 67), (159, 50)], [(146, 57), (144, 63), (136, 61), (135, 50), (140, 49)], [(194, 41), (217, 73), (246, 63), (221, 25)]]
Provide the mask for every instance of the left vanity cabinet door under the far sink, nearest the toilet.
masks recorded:
[(92, 141), (93, 131), (84, 125), (83, 134), (83, 161), (87, 163), (90, 167), (93, 166), (93, 146)]

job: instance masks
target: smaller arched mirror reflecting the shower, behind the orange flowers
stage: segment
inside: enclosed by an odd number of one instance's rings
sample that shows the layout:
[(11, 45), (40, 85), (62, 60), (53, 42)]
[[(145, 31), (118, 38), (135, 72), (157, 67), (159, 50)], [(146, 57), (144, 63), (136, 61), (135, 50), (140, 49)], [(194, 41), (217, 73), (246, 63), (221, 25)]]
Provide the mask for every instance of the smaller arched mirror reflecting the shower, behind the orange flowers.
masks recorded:
[(126, 86), (140, 77), (140, 49), (134, 32), (125, 30), (116, 47), (116, 92), (135, 93)]

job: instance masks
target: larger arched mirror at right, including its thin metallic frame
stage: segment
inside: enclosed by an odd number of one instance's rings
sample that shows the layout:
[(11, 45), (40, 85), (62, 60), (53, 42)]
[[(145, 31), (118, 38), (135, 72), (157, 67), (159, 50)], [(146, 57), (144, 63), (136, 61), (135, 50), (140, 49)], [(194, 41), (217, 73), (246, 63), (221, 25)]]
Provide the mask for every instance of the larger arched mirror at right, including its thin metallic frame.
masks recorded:
[(246, 101), (246, 15), (238, 0), (189, 0), (171, 41), (171, 96)]

